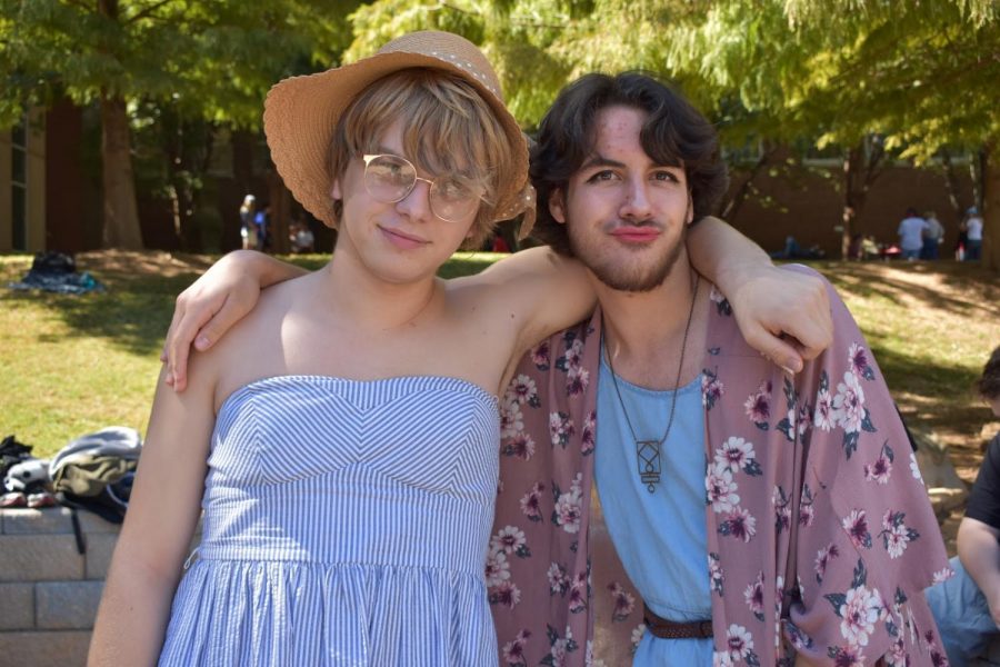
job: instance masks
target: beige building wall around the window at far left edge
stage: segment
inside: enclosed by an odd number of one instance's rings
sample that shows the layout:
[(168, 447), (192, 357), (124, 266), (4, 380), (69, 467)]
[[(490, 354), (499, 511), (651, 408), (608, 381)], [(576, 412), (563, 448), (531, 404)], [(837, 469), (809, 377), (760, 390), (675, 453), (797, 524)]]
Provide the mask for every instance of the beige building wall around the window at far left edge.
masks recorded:
[(0, 131), (0, 251), (37, 252), (46, 249), (46, 132), (44, 113), (28, 115), (26, 132), (24, 247), (13, 247), (12, 132)]

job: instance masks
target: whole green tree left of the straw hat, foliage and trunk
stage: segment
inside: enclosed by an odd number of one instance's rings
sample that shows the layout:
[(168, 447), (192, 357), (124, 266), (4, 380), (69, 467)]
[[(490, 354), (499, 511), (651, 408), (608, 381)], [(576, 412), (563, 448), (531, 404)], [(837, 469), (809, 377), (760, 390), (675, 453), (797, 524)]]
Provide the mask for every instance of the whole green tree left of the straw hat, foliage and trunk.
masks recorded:
[(100, 108), (103, 241), (141, 248), (130, 120), (142, 104), (180, 119), (259, 125), (267, 89), (338, 53), (349, 0), (0, 0), (0, 123), (56, 94)]

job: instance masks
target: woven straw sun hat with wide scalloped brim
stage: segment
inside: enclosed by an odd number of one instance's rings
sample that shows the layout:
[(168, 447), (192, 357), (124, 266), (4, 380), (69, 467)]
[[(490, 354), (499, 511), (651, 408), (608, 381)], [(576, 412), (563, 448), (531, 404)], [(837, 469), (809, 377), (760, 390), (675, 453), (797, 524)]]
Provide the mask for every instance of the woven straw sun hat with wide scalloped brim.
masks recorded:
[(458, 74), (490, 104), (519, 158), (513, 172), (501, 180), (497, 219), (510, 219), (527, 210), (518, 236), (528, 236), (534, 192), (528, 183), (527, 138), (503, 103), (500, 81), (489, 61), (476, 44), (450, 32), (411, 32), (358, 62), (274, 84), (264, 100), (264, 135), (284, 185), (306, 210), (336, 227), (328, 151), (337, 121), (369, 84), (411, 67)]

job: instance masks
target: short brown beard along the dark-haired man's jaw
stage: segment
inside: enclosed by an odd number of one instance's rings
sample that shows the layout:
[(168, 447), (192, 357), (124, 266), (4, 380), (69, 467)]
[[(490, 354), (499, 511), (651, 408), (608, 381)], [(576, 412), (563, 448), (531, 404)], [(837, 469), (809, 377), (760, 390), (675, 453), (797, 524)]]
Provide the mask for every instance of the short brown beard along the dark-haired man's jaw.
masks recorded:
[(656, 260), (642, 262), (602, 252), (598, 243), (574, 235), (572, 225), (568, 225), (568, 228), (569, 246), (573, 257), (583, 262), (583, 266), (602, 283), (627, 292), (647, 292), (663, 285), (684, 250), (684, 240), (688, 236), (688, 226), (683, 225), (680, 237), (667, 252)]

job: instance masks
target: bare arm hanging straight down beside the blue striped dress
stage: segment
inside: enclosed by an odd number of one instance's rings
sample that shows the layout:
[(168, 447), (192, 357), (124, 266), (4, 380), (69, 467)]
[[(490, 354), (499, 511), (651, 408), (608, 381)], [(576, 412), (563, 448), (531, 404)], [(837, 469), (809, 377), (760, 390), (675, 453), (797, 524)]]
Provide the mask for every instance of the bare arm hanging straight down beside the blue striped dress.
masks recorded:
[[(201, 376), (209, 374), (202, 372)], [(103, 597), (88, 665), (154, 665), (200, 514), (212, 386), (177, 395), (158, 382), (146, 445)]]

